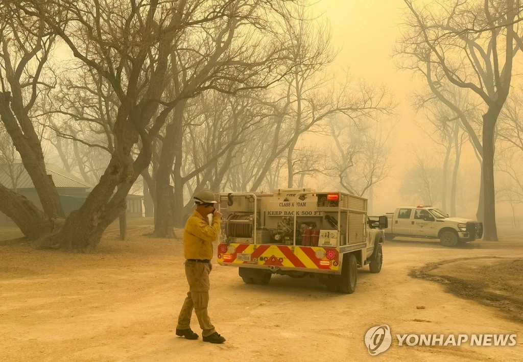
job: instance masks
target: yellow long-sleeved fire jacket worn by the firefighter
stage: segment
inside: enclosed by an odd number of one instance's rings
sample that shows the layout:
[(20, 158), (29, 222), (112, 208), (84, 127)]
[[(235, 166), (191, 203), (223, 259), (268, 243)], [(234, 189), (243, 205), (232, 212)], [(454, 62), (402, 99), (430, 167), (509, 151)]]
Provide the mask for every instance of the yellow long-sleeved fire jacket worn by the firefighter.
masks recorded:
[(207, 218), (194, 211), (184, 229), (184, 257), (186, 259), (212, 259), (212, 242), (218, 239), (221, 220)]

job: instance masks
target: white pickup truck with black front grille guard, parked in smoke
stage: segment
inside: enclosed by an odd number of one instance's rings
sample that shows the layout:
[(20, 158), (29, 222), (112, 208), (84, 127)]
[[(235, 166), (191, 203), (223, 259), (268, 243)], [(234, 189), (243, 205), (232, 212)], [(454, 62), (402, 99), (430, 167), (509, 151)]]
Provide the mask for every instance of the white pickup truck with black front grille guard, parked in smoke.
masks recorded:
[(483, 223), (469, 219), (451, 218), (445, 212), (430, 207), (399, 207), (395, 212), (386, 213), (388, 228), (385, 229), (385, 240), (396, 236), (426, 237), (439, 239), (441, 244), (454, 247), (481, 239)]

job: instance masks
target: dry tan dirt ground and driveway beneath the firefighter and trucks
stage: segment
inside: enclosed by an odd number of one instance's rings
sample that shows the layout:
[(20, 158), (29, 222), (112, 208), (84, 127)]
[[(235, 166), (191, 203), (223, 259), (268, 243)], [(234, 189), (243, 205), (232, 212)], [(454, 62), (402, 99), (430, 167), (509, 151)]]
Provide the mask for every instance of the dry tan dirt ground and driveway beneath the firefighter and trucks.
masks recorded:
[[(214, 263), (209, 312), (227, 342), (211, 345), (201, 341), (196, 318), (192, 327), (199, 340), (175, 336), (187, 291), (181, 241), (142, 236), (152, 227), (141, 223), (129, 228), (127, 241), (119, 241), (117, 228), (111, 227), (92, 255), (40, 251), (24, 244), (1, 246), (1, 360), (522, 359), (521, 310), (514, 307), (521, 302), (522, 277), (521, 262), (515, 259), (523, 258), (523, 239), (517, 232), (502, 233), (502, 242), (476, 241), (462, 248), (431, 241), (386, 242), (381, 273), (359, 269), (353, 295), (328, 293), (309, 278), (275, 276), (266, 286), (246, 285), (236, 268)], [(446, 262), (461, 258), (475, 259)], [(450, 291), (458, 294), (463, 288), (480, 292), (457, 297), (445, 292), (452, 284), (458, 287)], [(485, 301), (492, 295), (501, 299)], [(514, 311), (507, 314), (507, 308)], [(389, 324), (393, 334), (518, 333), (518, 345), (400, 347), (393, 343), (387, 352), (371, 357), (363, 335), (377, 324)]]

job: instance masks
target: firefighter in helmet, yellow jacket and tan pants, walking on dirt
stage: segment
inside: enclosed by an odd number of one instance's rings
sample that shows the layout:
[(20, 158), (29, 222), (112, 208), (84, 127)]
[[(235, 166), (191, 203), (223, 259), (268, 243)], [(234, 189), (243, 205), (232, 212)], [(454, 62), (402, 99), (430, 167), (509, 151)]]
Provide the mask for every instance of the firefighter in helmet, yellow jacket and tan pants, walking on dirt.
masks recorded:
[[(212, 242), (218, 239), (222, 215), (216, 211), (214, 194), (203, 189), (194, 196), (196, 210), (187, 220), (184, 229), (185, 275), (189, 282), (189, 292), (181, 307), (176, 326), (176, 335), (188, 340), (198, 339), (198, 334), (190, 327), (192, 309), (195, 310), (203, 342), (223, 343), (225, 338), (214, 330), (207, 307), (209, 305), (209, 273), (212, 270)], [(213, 214), (209, 225), (209, 214)]]

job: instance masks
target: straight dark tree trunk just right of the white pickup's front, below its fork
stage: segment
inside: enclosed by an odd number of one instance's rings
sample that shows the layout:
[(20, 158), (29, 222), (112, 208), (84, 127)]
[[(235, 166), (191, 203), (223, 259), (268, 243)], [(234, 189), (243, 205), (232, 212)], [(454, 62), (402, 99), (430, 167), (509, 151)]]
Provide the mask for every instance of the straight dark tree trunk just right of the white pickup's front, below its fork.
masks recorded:
[(496, 198), (494, 187), (494, 129), (499, 111), (489, 109), (483, 116), (483, 197), (484, 240), (497, 241)]

